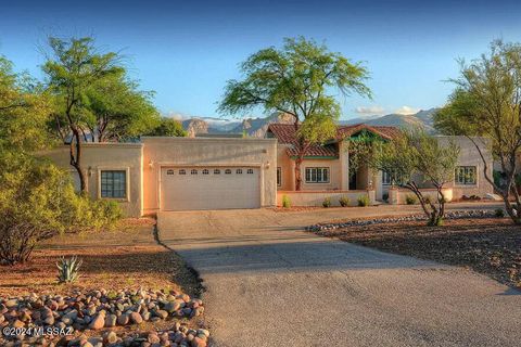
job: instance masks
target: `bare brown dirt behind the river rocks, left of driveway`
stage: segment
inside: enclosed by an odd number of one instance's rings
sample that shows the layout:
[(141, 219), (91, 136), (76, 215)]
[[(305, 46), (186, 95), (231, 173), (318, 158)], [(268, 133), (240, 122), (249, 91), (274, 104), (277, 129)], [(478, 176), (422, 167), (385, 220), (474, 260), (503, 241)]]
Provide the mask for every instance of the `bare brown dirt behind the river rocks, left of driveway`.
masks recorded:
[[(74, 288), (176, 290), (200, 296), (201, 284), (180, 257), (154, 240), (153, 219), (126, 219), (116, 231), (65, 234), (42, 243), (27, 264), (0, 266), (0, 296), (67, 294)], [(74, 284), (59, 284), (56, 261), (77, 255)]]

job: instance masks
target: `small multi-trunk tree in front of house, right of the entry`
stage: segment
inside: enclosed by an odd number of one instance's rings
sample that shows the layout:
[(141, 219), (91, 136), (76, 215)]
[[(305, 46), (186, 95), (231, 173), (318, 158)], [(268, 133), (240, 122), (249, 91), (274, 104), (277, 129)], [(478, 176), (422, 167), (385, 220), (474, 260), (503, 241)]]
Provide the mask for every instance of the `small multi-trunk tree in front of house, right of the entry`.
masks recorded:
[[(377, 142), (370, 167), (390, 175), (393, 184), (410, 190), (428, 217), (429, 226), (440, 226), (445, 216), (446, 198), (443, 188), (454, 180), (459, 155), (454, 142), (441, 143), (421, 129), (404, 130), (402, 136)], [(433, 201), (420, 190), (428, 182), (436, 189)]]

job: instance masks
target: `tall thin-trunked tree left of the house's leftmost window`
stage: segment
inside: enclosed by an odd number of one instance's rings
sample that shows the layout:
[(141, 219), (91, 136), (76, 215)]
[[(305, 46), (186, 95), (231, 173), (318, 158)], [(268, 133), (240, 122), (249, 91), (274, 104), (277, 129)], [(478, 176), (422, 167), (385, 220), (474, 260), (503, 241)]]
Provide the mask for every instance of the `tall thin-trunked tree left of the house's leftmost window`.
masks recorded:
[(85, 192), (87, 185), (86, 172), (81, 167), (81, 143), (86, 138), (84, 126), (91, 116), (87, 93), (92, 86), (122, 74), (123, 67), (116, 53), (99, 53), (91, 38), (62, 40), (51, 37), (49, 46), (51, 54), (42, 69), (55, 98), (55, 118), (65, 121), (65, 133), (69, 131), (72, 134), (71, 165), (77, 170), (81, 192)]

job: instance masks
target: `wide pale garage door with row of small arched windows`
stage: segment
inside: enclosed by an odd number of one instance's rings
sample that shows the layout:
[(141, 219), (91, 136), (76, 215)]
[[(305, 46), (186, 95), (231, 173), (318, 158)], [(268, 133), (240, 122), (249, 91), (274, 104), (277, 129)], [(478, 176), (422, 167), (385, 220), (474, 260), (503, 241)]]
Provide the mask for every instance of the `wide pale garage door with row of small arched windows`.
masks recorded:
[(163, 167), (163, 210), (260, 207), (259, 170), (251, 167)]

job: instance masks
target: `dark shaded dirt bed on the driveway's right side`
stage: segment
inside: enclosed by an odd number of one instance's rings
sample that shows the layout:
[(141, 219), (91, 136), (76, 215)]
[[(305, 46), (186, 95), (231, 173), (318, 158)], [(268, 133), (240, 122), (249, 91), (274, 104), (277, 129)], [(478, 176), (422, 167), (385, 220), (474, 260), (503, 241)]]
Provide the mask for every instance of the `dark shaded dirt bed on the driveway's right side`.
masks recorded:
[(507, 218), (357, 226), (321, 235), (384, 252), (462, 266), (521, 288), (521, 227)]

